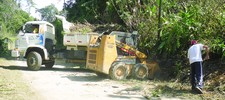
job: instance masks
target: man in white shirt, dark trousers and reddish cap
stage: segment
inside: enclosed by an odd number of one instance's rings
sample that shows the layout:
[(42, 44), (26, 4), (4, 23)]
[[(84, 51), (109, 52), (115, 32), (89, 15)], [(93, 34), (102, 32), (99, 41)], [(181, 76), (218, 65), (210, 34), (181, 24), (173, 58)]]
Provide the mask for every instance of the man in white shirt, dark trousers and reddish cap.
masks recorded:
[(196, 40), (191, 41), (191, 47), (188, 49), (188, 58), (191, 64), (191, 86), (192, 90), (202, 94), (203, 88), (203, 71), (202, 71), (202, 50), (206, 50), (206, 57), (209, 59), (209, 48), (206, 45), (198, 43)]

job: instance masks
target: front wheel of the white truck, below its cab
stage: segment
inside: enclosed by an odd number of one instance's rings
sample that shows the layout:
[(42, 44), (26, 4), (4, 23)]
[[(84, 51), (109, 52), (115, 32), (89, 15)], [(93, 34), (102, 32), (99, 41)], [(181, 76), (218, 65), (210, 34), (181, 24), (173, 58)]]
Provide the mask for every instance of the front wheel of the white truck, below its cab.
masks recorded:
[(30, 70), (37, 71), (41, 68), (42, 58), (37, 52), (30, 52), (27, 56), (27, 66)]

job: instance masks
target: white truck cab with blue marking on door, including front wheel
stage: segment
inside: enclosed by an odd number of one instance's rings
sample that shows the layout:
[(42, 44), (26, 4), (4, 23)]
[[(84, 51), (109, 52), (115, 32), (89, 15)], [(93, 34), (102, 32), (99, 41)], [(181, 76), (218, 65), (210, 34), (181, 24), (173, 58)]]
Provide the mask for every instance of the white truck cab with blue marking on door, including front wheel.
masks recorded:
[(55, 27), (46, 21), (29, 21), (17, 35), (12, 57), (24, 57), (31, 70), (39, 70), (41, 65), (52, 68), (55, 59)]

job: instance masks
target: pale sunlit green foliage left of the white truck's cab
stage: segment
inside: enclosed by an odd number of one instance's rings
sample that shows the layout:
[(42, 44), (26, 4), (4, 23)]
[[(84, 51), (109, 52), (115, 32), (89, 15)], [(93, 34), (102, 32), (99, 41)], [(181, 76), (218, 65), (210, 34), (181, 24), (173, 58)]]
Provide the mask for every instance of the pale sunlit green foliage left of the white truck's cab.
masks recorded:
[(0, 56), (6, 54), (6, 42), (13, 40), (21, 26), (33, 20), (28, 13), (21, 10), (14, 0), (0, 0)]

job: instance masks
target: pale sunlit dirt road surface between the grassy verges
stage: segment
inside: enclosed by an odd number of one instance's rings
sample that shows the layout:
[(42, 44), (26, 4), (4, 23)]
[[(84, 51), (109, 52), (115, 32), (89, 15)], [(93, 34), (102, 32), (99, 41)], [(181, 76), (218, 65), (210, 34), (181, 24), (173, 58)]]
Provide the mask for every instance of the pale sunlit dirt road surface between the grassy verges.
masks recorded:
[(28, 85), (39, 100), (145, 100), (140, 90), (121, 81), (96, 76), (92, 71), (63, 65), (58, 60), (53, 69), (29, 71), (25, 61), (16, 61)]

